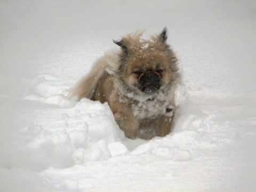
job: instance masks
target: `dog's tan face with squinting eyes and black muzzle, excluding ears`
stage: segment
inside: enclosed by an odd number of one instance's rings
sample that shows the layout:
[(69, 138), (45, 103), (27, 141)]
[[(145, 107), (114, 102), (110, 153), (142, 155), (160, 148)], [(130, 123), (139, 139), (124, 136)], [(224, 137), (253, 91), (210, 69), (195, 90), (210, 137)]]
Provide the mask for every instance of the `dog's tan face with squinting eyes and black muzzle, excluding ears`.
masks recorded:
[(139, 92), (153, 94), (170, 82), (171, 69), (163, 53), (141, 50), (132, 54), (122, 79)]

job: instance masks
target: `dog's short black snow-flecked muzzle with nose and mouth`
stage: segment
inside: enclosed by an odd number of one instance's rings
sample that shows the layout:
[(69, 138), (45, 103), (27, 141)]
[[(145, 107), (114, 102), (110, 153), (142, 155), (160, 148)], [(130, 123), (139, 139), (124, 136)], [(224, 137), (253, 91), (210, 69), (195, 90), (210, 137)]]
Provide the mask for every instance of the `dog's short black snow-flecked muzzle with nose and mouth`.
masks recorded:
[(153, 94), (161, 87), (161, 79), (152, 71), (147, 71), (141, 78), (138, 88), (146, 94)]

